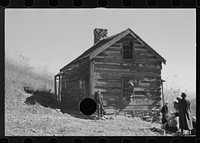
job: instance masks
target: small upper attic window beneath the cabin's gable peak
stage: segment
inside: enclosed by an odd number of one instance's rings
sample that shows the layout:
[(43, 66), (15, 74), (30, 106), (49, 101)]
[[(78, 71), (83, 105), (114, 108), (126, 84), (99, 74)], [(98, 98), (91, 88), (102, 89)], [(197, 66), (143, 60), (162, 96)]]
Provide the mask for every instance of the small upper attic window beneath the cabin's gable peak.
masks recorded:
[(132, 41), (124, 41), (123, 42), (123, 59), (133, 59), (133, 42)]

